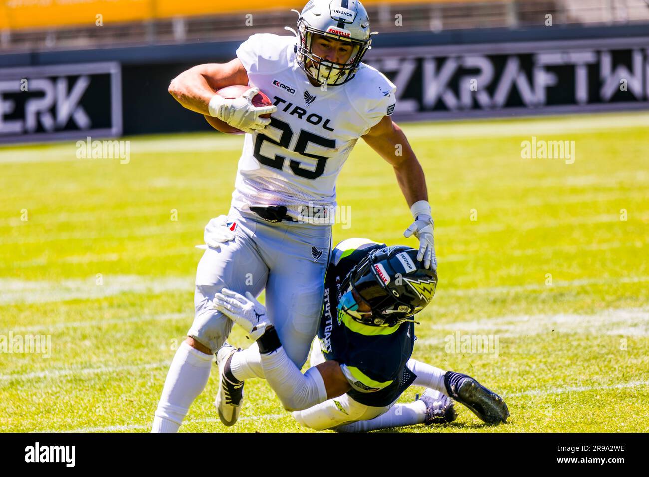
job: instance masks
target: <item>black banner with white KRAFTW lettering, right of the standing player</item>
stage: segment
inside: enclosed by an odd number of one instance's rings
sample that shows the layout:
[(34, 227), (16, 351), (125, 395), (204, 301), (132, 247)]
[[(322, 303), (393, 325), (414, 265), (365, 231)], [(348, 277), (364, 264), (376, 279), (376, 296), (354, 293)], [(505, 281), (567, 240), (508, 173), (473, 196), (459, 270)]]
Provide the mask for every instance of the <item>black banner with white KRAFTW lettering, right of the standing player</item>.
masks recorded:
[(402, 119), (649, 108), (649, 38), (383, 48)]

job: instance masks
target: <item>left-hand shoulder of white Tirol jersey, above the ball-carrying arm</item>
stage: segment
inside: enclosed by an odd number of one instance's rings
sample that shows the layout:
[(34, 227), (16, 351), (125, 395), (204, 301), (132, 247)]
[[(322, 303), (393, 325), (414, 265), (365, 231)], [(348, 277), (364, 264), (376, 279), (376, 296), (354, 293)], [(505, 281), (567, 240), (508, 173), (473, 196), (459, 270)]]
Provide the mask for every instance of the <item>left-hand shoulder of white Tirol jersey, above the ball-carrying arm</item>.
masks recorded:
[(294, 36), (258, 33), (241, 43), (236, 55), (247, 73), (276, 73), (289, 66), (293, 46)]

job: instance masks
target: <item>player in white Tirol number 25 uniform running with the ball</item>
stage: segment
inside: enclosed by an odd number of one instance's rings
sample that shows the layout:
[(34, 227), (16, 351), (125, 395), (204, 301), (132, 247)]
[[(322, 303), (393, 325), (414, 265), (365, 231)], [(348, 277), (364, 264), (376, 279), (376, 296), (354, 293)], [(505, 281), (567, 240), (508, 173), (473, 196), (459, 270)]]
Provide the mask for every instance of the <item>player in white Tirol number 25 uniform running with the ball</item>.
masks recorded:
[[(336, 178), (358, 138), (393, 165), (413, 215), (406, 237), (419, 239), (417, 260), (435, 269), (431, 206), (419, 161), (392, 121), (396, 86), (361, 63), (370, 48), (365, 8), (357, 0), (311, 0), (292, 36), (255, 34), (226, 64), (204, 64), (171, 81), (185, 108), (243, 130), (235, 190), (227, 217), (208, 224), (212, 242), (196, 275), (195, 318), (178, 348), (155, 411), (154, 432), (175, 432), (210, 374), (212, 354), (232, 321), (212, 308), (224, 287), (254, 297), (266, 291), (267, 318), (297, 367), (306, 361), (322, 307), (331, 249)], [(243, 84), (237, 99), (215, 92)], [(262, 90), (273, 106), (255, 107)], [(270, 118), (262, 115), (272, 114)], [(399, 147), (400, 146), (400, 147)], [(397, 154), (400, 151), (400, 154)], [(206, 230), (206, 231), (207, 231)], [(216, 233), (215, 233), (216, 231)], [(238, 353), (239, 376), (257, 376), (258, 350)], [(234, 424), (243, 396), (219, 385), (217, 407)]]

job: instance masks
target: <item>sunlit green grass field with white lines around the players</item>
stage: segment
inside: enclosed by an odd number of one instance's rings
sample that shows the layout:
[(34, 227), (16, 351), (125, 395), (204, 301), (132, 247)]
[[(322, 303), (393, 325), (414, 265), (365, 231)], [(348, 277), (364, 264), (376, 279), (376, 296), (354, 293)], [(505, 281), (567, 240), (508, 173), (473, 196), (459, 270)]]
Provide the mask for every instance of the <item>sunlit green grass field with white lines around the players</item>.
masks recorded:
[[(440, 280), (414, 356), (475, 376), (511, 417), (484, 426), (458, 404), (453, 424), (399, 430), (648, 431), (649, 114), (403, 127), (426, 171)], [(574, 141), (574, 163), (522, 158), (532, 136)], [(241, 137), (127, 139), (128, 164), (77, 159), (74, 141), (0, 148), (0, 337), (52, 347), (0, 353), (1, 431), (151, 426), (193, 317), (194, 246), (227, 212)], [(363, 141), (338, 194), (352, 221), (335, 241), (415, 245), (391, 167)], [(458, 332), (498, 347), (452, 352)], [(230, 341), (245, 343), (239, 330)], [(226, 428), (217, 384), (214, 366), (181, 430), (304, 430), (262, 380)]]

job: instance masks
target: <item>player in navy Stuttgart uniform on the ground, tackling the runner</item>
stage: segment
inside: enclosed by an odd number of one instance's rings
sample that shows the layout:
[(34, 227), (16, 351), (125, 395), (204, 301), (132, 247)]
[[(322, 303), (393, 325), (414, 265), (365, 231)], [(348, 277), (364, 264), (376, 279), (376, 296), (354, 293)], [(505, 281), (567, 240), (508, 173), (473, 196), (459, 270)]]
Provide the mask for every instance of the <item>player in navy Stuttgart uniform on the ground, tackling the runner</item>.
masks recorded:
[[(437, 287), (435, 271), (416, 257), (408, 247), (367, 239), (337, 245), (326, 273), (311, 367), (304, 374), (287, 358), (275, 328), (265, 321), (265, 308), (250, 293), (244, 297), (223, 289), (214, 306), (257, 339), (259, 362), (249, 371), (265, 377), (304, 426), (349, 432), (450, 422), (456, 417), (453, 400), (484, 422), (506, 422), (505, 402), (474, 378), (411, 358), (413, 318)], [(228, 406), (241, 406), (242, 380), (251, 377), (233, 372), (236, 352), (226, 344), (217, 354)], [(427, 388), (422, 398), (396, 404), (413, 384)]]

